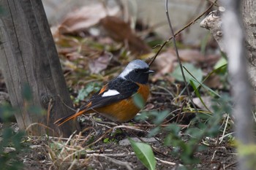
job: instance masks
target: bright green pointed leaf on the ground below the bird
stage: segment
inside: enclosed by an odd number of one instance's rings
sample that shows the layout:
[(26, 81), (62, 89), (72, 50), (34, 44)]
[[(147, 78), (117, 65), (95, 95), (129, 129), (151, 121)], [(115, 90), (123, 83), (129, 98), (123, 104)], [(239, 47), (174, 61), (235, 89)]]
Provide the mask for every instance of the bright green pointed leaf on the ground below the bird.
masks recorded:
[(131, 143), (132, 149), (135, 151), (135, 154), (140, 162), (143, 163), (147, 169), (156, 169), (157, 163), (150, 145), (142, 142), (135, 142), (132, 139), (129, 139), (129, 142)]

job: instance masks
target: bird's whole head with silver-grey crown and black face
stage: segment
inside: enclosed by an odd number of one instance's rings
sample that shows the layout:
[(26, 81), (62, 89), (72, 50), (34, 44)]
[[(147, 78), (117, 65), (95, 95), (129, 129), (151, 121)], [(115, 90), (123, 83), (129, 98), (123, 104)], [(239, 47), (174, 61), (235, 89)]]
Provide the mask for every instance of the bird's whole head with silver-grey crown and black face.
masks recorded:
[(148, 82), (148, 74), (154, 71), (149, 70), (149, 66), (142, 60), (135, 60), (129, 62), (127, 67), (118, 77), (123, 79), (131, 80), (133, 82), (139, 82), (146, 84)]

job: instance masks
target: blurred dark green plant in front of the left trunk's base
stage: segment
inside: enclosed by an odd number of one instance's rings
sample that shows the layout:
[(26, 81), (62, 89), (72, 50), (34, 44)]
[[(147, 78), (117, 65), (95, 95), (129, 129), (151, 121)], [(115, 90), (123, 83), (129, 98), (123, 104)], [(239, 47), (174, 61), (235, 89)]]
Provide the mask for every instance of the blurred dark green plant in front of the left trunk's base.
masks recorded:
[[(29, 85), (23, 85), (22, 96), (25, 106), (23, 112), (33, 112), (35, 115), (44, 114), (40, 107), (32, 104), (32, 93)], [(2, 127), (0, 128), (0, 169), (22, 169), (23, 163), (18, 160), (18, 153), (28, 150), (23, 142), (26, 132), (23, 130), (15, 131), (12, 128), (15, 112), (18, 112), (18, 110), (10, 104), (3, 104), (0, 107), (0, 120), (2, 121)]]

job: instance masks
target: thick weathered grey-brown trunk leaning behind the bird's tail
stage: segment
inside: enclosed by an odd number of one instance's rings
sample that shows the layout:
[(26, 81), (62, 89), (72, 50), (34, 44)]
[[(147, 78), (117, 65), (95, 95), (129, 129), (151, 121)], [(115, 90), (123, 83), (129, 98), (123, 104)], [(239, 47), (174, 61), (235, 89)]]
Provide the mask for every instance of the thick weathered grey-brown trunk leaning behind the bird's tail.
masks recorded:
[[(78, 125), (65, 123), (58, 128), (53, 122), (71, 110), (67, 85), (42, 1), (0, 0), (4, 9), (0, 20), (0, 61), (7, 90), (13, 107), (18, 108), (15, 117), (21, 129), (29, 128), (34, 135), (49, 132), (50, 135), (69, 136)], [(37, 115), (26, 110), (22, 94), (23, 85), (31, 88), (32, 104), (48, 110)], [(52, 106), (51, 109), (48, 109)], [(42, 125), (40, 125), (42, 124)], [(53, 131), (46, 131), (47, 125)]]

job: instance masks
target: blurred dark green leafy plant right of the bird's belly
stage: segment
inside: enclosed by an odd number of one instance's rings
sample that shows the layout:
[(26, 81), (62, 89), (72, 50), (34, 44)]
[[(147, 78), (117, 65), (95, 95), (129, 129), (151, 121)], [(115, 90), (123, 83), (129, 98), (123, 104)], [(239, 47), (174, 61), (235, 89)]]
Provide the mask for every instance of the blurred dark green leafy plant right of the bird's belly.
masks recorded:
[[(165, 133), (165, 146), (173, 148), (170, 155), (179, 158), (180, 163), (184, 164), (184, 169), (186, 169), (187, 166), (191, 168), (195, 163), (199, 162), (199, 160), (195, 158), (195, 153), (206, 149), (208, 146), (207, 139), (216, 139), (218, 142), (219, 139), (217, 139), (217, 136), (221, 133), (223, 139), (225, 131), (229, 129), (231, 124), (230, 119), (226, 118), (229, 117), (232, 109), (230, 96), (225, 93), (222, 93), (221, 96), (198, 81), (197, 85), (195, 85), (195, 81), (197, 80), (192, 77), (190, 85), (194, 88), (197, 97), (201, 98), (200, 89), (198, 88), (198, 85), (200, 85), (200, 87), (203, 87), (213, 94), (215, 98), (213, 97), (211, 102), (212, 108), (206, 111), (199, 110), (199, 112), (195, 112), (194, 109), (189, 107), (189, 104), (182, 109), (183, 112), (196, 113), (186, 129), (181, 129), (181, 126), (176, 123), (170, 123), (165, 127), (161, 126), (165, 118), (171, 114), (171, 112), (166, 110), (162, 112), (143, 112), (140, 116), (135, 117), (137, 120), (146, 120), (148, 117), (151, 118), (152, 122), (157, 126), (149, 132), (148, 136), (156, 136), (160, 132)], [(204, 102), (202, 98), (201, 101), (202, 103)], [(227, 141), (228, 140), (229, 139), (227, 139)]]

